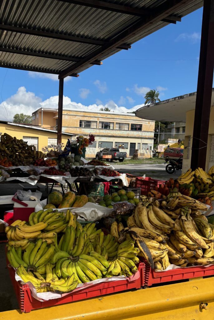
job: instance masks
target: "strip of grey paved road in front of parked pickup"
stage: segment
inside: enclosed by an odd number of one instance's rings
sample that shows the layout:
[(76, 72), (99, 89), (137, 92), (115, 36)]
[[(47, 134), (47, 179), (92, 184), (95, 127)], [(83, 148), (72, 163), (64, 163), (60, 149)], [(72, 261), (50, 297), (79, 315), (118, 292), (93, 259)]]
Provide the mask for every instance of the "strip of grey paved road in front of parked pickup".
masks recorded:
[(135, 176), (143, 176), (151, 177), (157, 180), (169, 180), (170, 178), (178, 178), (181, 174), (181, 171), (177, 171), (176, 173), (169, 174), (166, 172), (165, 164), (121, 164), (121, 163), (111, 163), (115, 167), (115, 169), (130, 173)]

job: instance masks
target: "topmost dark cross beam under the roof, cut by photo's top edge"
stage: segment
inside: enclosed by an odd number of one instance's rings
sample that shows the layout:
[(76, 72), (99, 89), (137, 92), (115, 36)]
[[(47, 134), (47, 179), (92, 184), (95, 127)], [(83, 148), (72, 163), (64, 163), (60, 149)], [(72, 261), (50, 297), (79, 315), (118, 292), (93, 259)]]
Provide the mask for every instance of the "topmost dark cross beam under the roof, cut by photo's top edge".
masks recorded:
[[(110, 3), (110, 2), (99, 1), (99, 0), (57, 0), (57, 1), (67, 2), (70, 4), (78, 4), (86, 7), (103, 9), (107, 11), (119, 12), (119, 13), (137, 16), (137, 17), (145, 17), (147, 14), (150, 14), (152, 12), (152, 9), (148, 9), (148, 8), (129, 7), (122, 4)], [(171, 19), (171, 17), (173, 17), (174, 19)], [(170, 21), (165, 21), (165, 22), (175, 23), (171, 21), (181, 21), (181, 18), (170, 16), (168, 17), (168, 20)]]

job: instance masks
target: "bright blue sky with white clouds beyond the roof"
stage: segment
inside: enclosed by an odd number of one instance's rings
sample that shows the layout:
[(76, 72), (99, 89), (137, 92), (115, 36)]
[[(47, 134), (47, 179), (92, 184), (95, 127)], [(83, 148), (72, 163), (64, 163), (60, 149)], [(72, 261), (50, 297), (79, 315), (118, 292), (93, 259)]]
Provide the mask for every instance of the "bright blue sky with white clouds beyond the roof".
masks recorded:
[[(176, 25), (170, 24), (143, 38), (132, 49), (104, 60), (102, 66), (80, 73), (79, 78), (67, 78), (65, 105), (70, 108), (90, 105), (95, 109), (95, 104), (103, 104), (114, 110), (124, 107), (119, 110), (126, 111), (125, 108), (134, 110), (143, 104), (149, 89), (157, 88), (161, 100), (196, 91), (202, 12), (201, 8)], [(2, 120), (11, 120), (14, 112), (30, 114), (42, 101), (46, 107), (56, 105), (57, 77), (44, 76), (0, 68)], [(54, 99), (49, 99), (53, 96)]]

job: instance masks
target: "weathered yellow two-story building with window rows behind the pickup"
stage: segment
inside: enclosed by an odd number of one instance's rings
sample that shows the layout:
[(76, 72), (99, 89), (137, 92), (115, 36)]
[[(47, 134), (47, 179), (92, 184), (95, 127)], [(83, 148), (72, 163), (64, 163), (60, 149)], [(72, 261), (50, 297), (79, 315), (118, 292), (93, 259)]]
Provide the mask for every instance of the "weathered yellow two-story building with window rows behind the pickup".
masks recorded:
[[(33, 125), (57, 130), (57, 109), (40, 108), (32, 114)], [(94, 157), (103, 148), (119, 148), (133, 156), (150, 157), (153, 149), (155, 121), (138, 118), (133, 113), (107, 111), (78, 111), (63, 109), (62, 131), (87, 136), (92, 133), (95, 141), (87, 148), (86, 157)]]

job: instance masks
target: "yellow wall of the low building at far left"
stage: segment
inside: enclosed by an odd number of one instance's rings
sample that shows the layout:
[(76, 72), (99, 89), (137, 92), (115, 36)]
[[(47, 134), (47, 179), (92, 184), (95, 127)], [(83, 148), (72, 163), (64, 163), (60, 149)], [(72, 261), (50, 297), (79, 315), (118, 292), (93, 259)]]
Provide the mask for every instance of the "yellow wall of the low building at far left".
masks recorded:
[[(42, 151), (42, 147), (48, 145), (48, 138), (57, 138), (57, 133), (47, 132), (43, 130), (36, 130), (32, 128), (21, 127), (18, 125), (2, 124), (0, 123), (0, 132), (8, 133), (12, 137), (17, 139), (23, 139), (23, 136), (37, 137), (38, 138), (38, 150)], [(67, 139), (70, 138), (68, 135), (62, 135), (62, 142), (66, 144)]]

